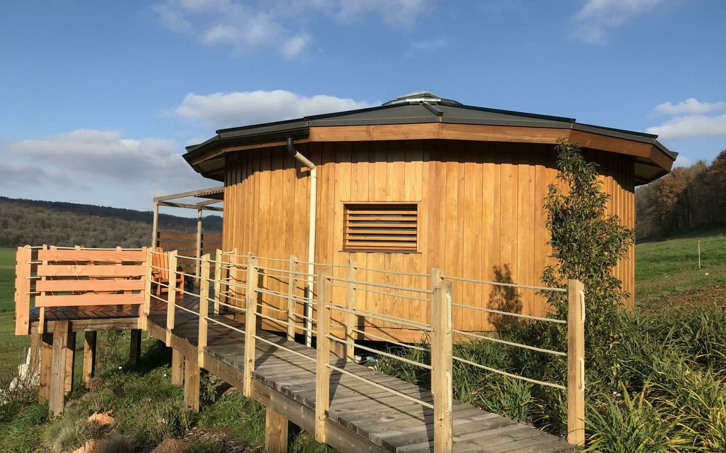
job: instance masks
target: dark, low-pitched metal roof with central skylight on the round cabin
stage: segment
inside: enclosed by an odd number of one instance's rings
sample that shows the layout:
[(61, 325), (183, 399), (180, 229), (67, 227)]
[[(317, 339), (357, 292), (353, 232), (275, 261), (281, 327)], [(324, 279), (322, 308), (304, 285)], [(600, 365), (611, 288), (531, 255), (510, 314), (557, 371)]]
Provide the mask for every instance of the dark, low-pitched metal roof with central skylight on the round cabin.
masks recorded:
[[(379, 107), (219, 129), (216, 131), (217, 135), (208, 141), (187, 146), (184, 159), (191, 163), (192, 160), (195, 160), (197, 156), (204, 154), (206, 151), (232, 143), (264, 144), (270, 141), (284, 141), (288, 137), (305, 138), (309, 134), (309, 128), (316, 126), (386, 125), (423, 122), (582, 130), (603, 136), (653, 144), (672, 159), (675, 159), (678, 155), (660, 144), (656, 140), (657, 136), (653, 134), (582, 124), (576, 122), (574, 118), (464, 105), (451, 99), (441, 98), (428, 91), (419, 91), (406, 96), (399, 96), (399, 98), (386, 102), (386, 104)], [(200, 165), (195, 167), (197, 167), (197, 171), (203, 170)]]

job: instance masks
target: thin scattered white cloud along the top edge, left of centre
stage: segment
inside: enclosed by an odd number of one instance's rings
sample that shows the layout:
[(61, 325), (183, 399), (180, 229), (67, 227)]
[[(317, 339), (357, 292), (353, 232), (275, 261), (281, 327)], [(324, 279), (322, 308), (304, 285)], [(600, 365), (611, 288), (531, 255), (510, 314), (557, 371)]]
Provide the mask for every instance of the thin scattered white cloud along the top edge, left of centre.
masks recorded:
[(234, 53), (274, 49), (298, 57), (313, 38), (302, 28), (327, 17), (339, 22), (378, 17), (395, 28), (412, 28), (436, 0), (165, 0), (153, 9), (166, 28), (195, 33), (208, 45), (231, 46)]

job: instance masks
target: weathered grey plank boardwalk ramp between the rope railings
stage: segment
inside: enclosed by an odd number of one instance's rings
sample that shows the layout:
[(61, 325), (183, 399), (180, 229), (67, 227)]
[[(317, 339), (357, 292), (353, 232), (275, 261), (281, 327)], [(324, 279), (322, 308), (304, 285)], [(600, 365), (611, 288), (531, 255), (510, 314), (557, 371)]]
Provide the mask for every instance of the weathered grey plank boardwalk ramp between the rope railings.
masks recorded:
[[(197, 309), (196, 301), (177, 302)], [(234, 328), (244, 324), (224, 315), (214, 315)], [(166, 314), (152, 313), (148, 331), (166, 338)], [(198, 317), (177, 309), (171, 347), (184, 357), (197, 357)], [(315, 426), (315, 349), (267, 331), (258, 335), (274, 344), (293, 349), (299, 355), (256, 341), (253, 371), (254, 399), (309, 432)], [(204, 367), (234, 386), (242, 386), (245, 336), (216, 323), (208, 325), (209, 346), (204, 350)], [(331, 364), (364, 376), (425, 402), (433, 402), (430, 391), (354, 362), (331, 356)], [(326, 439), (342, 452), (433, 452), (433, 410), (380, 390), (333, 370), (330, 377), (330, 411)], [(574, 446), (556, 436), (484, 412), (470, 404), (454, 402), (454, 452), (572, 452)]]

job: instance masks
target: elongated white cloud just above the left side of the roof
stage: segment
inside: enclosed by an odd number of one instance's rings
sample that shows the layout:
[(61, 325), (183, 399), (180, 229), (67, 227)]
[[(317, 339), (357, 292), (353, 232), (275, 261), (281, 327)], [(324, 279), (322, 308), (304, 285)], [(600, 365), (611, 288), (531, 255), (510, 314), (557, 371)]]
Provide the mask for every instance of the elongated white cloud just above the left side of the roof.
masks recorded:
[(285, 90), (234, 91), (208, 95), (189, 93), (174, 113), (181, 118), (201, 121), (219, 129), (363, 109), (376, 104), (325, 94), (301, 96)]

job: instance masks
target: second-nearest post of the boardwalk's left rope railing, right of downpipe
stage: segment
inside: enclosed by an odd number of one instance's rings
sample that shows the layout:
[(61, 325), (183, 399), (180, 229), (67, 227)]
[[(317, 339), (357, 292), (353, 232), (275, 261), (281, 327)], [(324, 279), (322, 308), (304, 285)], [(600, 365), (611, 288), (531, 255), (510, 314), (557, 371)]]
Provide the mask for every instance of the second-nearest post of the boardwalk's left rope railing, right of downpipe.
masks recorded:
[(330, 409), (330, 267), (318, 274), (317, 360), (315, 369), (315, 440), (325, 442), (326, 412)]

